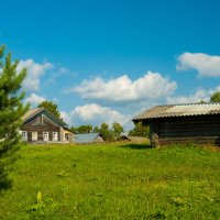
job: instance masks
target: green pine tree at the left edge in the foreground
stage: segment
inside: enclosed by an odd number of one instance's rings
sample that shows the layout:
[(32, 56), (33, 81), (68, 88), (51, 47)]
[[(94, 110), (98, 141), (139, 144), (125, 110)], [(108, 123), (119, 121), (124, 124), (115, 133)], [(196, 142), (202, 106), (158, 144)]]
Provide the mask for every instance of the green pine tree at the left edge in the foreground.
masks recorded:
[(19, 62), (12, 63), (11, 54), (2, 62), (4, 50), (6, 46), (0, 47), (0, 189), (9, 187), (10, 184), (3, 157), (18, 150), (21, 138), (19, 128), (22, 124), (22, 117), (29, 109), (28, 105), (22, 103), (24, 92), (21, 91), (26, 70), (16, 72)]

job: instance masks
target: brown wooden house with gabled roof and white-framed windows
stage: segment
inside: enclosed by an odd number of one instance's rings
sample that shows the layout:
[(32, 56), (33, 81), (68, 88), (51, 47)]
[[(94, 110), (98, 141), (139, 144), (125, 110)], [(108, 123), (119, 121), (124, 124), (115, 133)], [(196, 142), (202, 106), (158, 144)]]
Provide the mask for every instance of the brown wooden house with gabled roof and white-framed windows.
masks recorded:
[(72, 143), (74, 133), (67, 124), (44, 108), (29, 110), (20, 128), (22, 141), (29, 143)]

